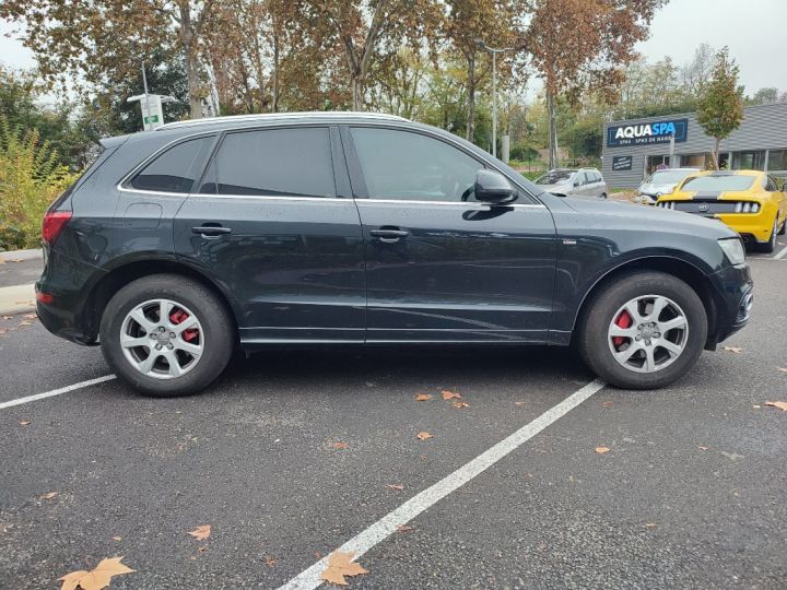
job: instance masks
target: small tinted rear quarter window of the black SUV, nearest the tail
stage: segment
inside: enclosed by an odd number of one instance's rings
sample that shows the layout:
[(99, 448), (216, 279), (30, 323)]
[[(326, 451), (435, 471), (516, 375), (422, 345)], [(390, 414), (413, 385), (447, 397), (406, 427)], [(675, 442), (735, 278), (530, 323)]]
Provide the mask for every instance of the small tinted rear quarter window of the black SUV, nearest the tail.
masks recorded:
[(202, 174), (213, 140), (210, 135), (174, 145), (142, 168), (129, 186), (156, 192), (190, 192)]

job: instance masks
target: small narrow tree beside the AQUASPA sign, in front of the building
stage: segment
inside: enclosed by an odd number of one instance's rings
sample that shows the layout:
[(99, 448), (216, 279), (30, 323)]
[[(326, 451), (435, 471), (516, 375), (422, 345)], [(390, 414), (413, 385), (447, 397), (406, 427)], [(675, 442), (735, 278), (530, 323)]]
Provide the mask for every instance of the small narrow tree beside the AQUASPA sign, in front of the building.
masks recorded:
[(718, 169), (719, 144), (743, 120), (743, 86), (738, 85), (739, 68), (723, 48), (716, 55), (710, 80), (703, 87), (697, 106), (697, 122), (714, 138), (713, 162)]

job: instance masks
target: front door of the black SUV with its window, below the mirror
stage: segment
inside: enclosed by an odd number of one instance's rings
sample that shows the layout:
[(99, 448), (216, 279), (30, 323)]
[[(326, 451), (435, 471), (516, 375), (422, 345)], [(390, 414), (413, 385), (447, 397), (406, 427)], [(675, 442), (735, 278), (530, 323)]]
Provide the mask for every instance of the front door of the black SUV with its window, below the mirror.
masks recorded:
[(477, 156), (414, 130), (343, 130), (365, 239), (367, 342), (543, 341), (552, 310), (552, 215), (521, 191), (472, 194)]

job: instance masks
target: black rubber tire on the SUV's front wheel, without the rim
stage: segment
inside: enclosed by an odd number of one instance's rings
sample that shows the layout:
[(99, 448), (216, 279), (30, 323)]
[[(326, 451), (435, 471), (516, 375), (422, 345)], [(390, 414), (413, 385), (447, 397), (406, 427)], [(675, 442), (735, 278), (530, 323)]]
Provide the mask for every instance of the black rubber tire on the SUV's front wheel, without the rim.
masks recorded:
[[(607, 341), (613, 316), (631, 299), (662, 295), (683, 310), (689, 335), (681, 355), (669, 366), (654, 373), (637, 373), (615, 361)], [(682, 377), (700, 357), (707, 339), (705, 306), (686, 283), (671, 274), (641, 271), (624, 274), (602, 285), (591, 295), (579, 320), (576, 345), (585, 363), (601, 379), (623, 389), (657, 389)]]

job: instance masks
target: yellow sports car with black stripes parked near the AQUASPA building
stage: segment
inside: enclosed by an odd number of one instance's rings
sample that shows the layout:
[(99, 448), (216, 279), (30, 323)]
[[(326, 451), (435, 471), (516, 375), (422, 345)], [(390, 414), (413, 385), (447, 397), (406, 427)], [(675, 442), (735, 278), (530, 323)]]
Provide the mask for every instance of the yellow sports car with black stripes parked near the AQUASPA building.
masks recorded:
[(763, 252), (773, 252), (776, 234), (787, 231), (787, 194), (760, 170), (696, 173), (657, 206), (717, 219)]

